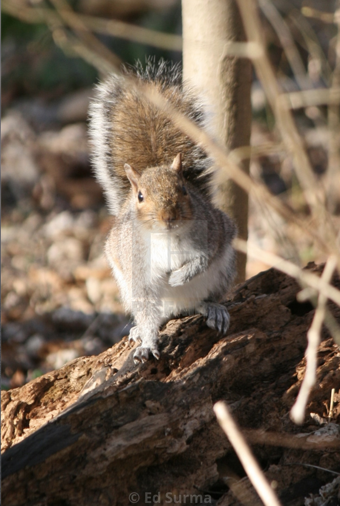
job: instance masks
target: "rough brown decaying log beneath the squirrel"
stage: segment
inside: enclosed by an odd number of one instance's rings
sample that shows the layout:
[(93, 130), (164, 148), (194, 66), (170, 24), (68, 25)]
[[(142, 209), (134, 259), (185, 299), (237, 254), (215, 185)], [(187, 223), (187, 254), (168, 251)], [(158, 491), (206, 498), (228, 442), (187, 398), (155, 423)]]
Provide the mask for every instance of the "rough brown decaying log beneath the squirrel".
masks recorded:
[[(138, 504), (153, 503), (158, 492), (161, 504), (195, 503), (192, 494), (198, 503), (261, 504), (216, 423), (212, 406), (220, 399), (282, 503), (304, 504), (332, 475), (301, 464), (336, 470), (340, 461), (338, 427), (325, 425), (332, 388), (339, 400), (340, 354), (323, 329), (318, 383), (304, 426), (294, 426), (289, 409), (314, 315), (296, 301), (299, 289), (270, 269), (236, 287), (223, 338), (201, 316), (171, 320), (160, 334), (159, 361), (135, 366), (125, 338), (3, 392), (3, 505), (125, 506), (132, 492)], [(340, 322), (340, 308), (329, 308)], [(335, 402), (332, 422), (339, 417)]]

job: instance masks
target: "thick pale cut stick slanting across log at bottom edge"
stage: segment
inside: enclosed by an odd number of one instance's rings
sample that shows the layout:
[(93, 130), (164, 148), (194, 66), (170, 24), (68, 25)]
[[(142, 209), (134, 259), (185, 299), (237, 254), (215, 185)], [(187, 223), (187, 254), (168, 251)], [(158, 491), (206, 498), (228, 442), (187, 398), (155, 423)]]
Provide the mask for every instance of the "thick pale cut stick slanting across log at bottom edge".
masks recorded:
[(216, 402), (213, 409), (219, 425), (233, 445), (249, 480), (265, 506), (280, 506), (279, 499), (266, 480), (226, 404), (221, 401)]

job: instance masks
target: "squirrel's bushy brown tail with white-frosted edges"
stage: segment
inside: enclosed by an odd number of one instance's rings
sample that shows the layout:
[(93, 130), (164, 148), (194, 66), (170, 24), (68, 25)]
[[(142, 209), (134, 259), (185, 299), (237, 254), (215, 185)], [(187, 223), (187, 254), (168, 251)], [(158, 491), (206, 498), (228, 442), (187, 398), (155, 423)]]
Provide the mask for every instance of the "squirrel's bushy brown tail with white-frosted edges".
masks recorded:
[[(203, 103), (191, 88), (182, 86), (178, 65), (149, 59), (145, 70), (137, 63), (125, 73), (154, 86), (186, 117), (206, 126)], [(125, 163), (142, 172), (146, 167), (170, 164), (181, 152), (185, 179), (210, 193), (211, 159), (138, 87), (129, 86), (126, 77), (110, 75), (99, 84), (89, 114), (95, 173), (112, 214), (119, 214), (130, 191)]]

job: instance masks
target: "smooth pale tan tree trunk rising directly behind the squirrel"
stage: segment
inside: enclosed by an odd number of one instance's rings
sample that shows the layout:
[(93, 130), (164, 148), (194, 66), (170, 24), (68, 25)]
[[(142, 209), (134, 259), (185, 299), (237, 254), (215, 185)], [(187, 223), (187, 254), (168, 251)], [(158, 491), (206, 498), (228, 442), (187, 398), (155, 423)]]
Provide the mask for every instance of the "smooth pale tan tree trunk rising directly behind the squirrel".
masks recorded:
[[(192, 81), (213, 111), (212, 133), (229, 150), (248, 146), (251, 127), (251, 62), (225, 54), (226, 43), (244, 40), (235, 0), (182, 0), (183, 78)], [(249, 173), (249, 160), (243, 162)], [(219, 171), (218, 205), (248, 236), (248, 195)], [(238, 282), (245, 279), (246, 256), (238, 255)]]

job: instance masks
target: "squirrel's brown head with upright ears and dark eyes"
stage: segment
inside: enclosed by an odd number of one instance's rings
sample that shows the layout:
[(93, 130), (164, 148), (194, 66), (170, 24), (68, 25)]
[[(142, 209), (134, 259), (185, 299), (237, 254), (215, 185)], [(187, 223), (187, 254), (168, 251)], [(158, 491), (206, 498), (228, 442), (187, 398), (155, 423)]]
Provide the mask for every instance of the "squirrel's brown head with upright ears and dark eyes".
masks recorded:
[(171, 165), (145, 168), (124, 165), (137, 218), (148, 229), (173, 229), (192, 219), (191, 197), (182, 174), (181, 153)]

